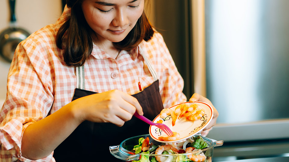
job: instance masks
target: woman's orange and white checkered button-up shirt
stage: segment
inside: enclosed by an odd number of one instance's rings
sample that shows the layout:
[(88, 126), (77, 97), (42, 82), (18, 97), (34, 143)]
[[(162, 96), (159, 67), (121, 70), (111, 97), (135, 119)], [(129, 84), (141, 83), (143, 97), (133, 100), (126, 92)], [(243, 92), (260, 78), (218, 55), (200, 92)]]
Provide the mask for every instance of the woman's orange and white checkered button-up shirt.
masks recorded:
[[(8, 73), (6, 101), (0, 111), (1, 162), (31, 161), (21, 156), (25, 128), (71, 102), (76, 88), (76, 69), (64, 63), (61, 50), (55, 44), (56, 33), (69, 14), (66, 7), (55, 24), (34, 32), (17, 46)], [(84, 64), (85, 89), (138, 93), (139, 81), (142, 88), (154, 82), (142, 55), (148, 58), (158, 75), (164, 107), (186, 101), (182, 93), (183, 79), (159, 33), (135, 49), (121, 51), (117, 59), (94, 45)], [(37, 161), (55, 161), (53, 152)]]

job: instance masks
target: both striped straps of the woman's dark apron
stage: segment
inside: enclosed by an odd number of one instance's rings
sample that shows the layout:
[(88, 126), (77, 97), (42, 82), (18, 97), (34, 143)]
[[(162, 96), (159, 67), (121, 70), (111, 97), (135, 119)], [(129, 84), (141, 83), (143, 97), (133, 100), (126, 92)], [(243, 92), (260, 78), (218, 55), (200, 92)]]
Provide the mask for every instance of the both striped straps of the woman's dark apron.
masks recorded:
[[(145, 56), (144, 52), (141, 50), (141, 48), (137, 47), (137, 50), (139, 50), (140, 54), (144, 58), (144, 62), (148, 65), (148, 70), (151, 73), (151, 76), (154, 78), (154, 81), (157, 81), (157, 72), (154, 70), (154, 67), (151, 65), (150, 61), (148, 58)], [(138, 51), (137, 51), (138, 52)], [(85, 79), (84, 79), (84, 65), (80, 67), (76, 67), (76, 86), (79, 89), (85, 89)]]

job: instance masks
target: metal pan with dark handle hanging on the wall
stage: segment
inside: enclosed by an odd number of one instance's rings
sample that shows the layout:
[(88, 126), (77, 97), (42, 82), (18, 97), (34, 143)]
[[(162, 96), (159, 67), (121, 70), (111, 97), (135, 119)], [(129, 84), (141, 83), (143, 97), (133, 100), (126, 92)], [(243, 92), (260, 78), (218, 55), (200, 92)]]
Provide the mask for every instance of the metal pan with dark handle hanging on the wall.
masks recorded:
[(16, 0), (9, 0), (10, 27), (0, 34), (0, 55), (9, 62), (12, 61), (17, 45), (30, 35), (25, 29), (17, 27), (15, 1)]

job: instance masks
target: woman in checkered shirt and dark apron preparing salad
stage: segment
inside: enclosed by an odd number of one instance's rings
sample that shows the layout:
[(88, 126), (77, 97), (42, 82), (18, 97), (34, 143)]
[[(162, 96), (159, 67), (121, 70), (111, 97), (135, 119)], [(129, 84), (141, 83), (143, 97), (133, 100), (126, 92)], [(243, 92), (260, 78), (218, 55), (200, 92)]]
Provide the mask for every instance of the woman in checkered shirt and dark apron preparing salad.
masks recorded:
[[(148, 134), (135, 112), (152, 120), (186, 101), (144, 0), (67, 0), (67, 7), (16, 49), (0, 117), (3, 161), (117, 161), (108, 146)], [(190, 101), (213, 107), (198, 94)]]

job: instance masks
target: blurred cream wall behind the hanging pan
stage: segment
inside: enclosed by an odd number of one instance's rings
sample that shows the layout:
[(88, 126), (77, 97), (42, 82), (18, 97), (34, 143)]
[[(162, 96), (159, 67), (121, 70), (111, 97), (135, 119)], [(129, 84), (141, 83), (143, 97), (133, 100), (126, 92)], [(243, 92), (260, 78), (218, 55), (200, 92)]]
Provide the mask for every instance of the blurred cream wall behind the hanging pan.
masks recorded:
[[(17, 0), (15, 14), (18, 26), (33, 33), (54, 23), (62, 13), (61, 0)], [(8, 0), (0, 1), (0, 31), (9, 27), (10, 9)], [(10, 62), (0, 58), (0, 105), (6, 97), (7, 74)]]

